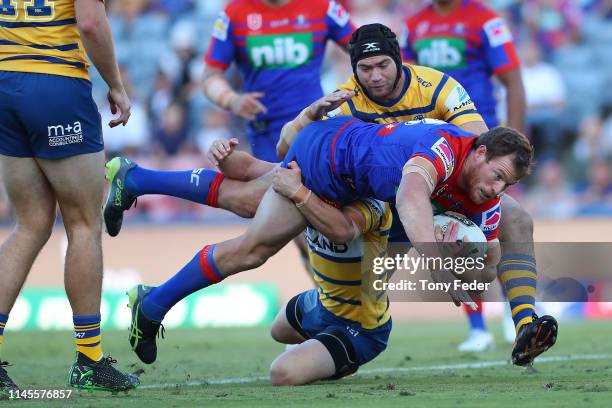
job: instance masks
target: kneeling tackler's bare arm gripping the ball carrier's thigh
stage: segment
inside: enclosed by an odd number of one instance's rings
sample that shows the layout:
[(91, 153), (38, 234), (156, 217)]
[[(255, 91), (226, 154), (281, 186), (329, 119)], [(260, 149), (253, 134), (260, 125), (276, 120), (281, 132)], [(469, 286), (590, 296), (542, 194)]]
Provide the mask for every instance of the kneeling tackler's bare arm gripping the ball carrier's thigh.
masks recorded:
[(292, 200), (314, 229), (333, 242), (349, 242), (365, 231), (365, 218), (352, 204), (341, 210), (327, 204), (302, 184), (302, 173), (296, 162), (279, 168), (272, 178), (272, 188)]

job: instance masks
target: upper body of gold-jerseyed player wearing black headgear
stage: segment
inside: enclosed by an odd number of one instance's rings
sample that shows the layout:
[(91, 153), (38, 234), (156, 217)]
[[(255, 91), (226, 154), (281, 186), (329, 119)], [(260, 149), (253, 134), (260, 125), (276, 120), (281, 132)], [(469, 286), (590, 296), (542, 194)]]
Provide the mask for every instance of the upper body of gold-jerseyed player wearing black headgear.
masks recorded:
[(338, 115), (375, 123), (439, 119), (475, 134), (487, 130), (467, 91), (452, 77), (433, 68), (402, 64), (395, 34), (382, 24), (360, 27), (351, 39), (350, 52), (354, 74), (283, 127), (279, 157), (284, 158), (307, 124)]

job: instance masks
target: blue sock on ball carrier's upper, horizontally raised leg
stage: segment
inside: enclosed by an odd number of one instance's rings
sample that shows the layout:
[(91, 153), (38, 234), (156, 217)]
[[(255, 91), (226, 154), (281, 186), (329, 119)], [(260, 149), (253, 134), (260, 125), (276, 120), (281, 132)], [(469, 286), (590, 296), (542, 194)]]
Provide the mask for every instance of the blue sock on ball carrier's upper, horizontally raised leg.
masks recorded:
[(163, 194), (199, 204), (217, 206), (223, 174), (214, 170), (158, 171), (134, 167), (125, 177), (125, 184), (136, 195)]

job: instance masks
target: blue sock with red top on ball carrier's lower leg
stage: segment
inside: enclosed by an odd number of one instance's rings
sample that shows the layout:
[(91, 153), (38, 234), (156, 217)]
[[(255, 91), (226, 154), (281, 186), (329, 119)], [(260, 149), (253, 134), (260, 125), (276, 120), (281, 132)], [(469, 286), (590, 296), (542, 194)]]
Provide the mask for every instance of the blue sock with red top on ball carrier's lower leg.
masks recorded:
[(142, 312), (151, 320), (162, 321), (168, 310), (182, 299), (207, 286), (221, 282), (213, 260), (214, 245), (207, 245), (176, 275), (153, 288), (142, 301)]

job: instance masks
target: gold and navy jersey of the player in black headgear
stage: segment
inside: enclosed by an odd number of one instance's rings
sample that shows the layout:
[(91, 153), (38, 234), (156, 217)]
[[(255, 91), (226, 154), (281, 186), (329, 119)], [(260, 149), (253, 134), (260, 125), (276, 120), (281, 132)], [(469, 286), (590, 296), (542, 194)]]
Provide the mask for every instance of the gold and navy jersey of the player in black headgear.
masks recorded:
[(357, 95), (328, 116), (349, 115), (380, 124), (425, 118), (457, 126), (482, 121), (467, 91), (452, 77), (419, 65), (405, 64), (403, 70), (406, 83), (396, 101), (383, 103), (370, 99), (353, 75), (338, 89), (355, 91)]

